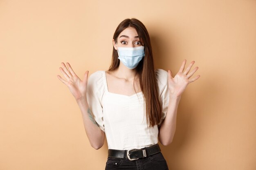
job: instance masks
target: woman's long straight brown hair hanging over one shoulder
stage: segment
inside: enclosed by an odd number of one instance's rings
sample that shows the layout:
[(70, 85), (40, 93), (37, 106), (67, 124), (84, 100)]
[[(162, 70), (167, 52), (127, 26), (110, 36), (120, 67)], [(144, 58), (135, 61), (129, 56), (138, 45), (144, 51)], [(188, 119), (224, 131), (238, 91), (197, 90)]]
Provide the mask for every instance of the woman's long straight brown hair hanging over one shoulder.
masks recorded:
[[(156, 84), (150, 38), (144, 24), (135, 18), (131, 18), (123, 20), (117, 26), (113, 39), (117, 41), (118, 35), (127, 27), (133, 27), (136, 29), (139, 36), (139, 41), (142, 45), (144, 45), (145, 57), (143, 57), (143, 59), (139, 62), (138, 66), (136, 67), (136, 71), (137, 74), (139, 74), (140, 87), (146, 103), (147, 125), (150, 127), (155, 126), (160, 121), (162, 107), (158, 98), (158, 86)], [(119, 64), (120, 61), (118, 59), (118, 53), (113, 46), (112, 63), (108, 71), (114, 71), (119, 67)]]

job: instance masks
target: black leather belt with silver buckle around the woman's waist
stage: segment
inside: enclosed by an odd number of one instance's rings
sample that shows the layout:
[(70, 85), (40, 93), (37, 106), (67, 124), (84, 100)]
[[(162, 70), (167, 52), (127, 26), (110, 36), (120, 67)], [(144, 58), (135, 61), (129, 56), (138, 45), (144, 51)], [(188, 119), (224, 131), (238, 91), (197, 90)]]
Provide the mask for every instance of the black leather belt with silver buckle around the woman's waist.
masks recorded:
[(134, 161), (139, 158), (145, 158), (150, 155), (154, 155), (158, 152), (161, 152), (161, 149), (158, 144), (155, 144), (153, 146), (149, 146), (141, 149), (130, 149), (130, 150), (108, 149), (108, 157), (128, 158), (130, 161)]

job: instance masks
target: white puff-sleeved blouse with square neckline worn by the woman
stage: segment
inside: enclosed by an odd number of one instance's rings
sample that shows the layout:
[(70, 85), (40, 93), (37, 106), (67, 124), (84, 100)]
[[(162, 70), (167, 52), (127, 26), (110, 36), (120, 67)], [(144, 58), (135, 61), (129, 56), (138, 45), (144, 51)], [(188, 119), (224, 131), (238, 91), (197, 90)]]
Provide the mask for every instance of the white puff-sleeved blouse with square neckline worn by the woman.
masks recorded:
[(109, 92), (106, 71), (96, 71), (88, 78), (88, 105), (95, 121), (106, 134), (108, 149), (140, 149), (157, 144), (158, 127), (165, 119), (169, 103), (168, 72), (155, 69), (155, 76), (162, 114), (160, 123), (150, 128), (147, 127), (142, 92), (131, 96)]

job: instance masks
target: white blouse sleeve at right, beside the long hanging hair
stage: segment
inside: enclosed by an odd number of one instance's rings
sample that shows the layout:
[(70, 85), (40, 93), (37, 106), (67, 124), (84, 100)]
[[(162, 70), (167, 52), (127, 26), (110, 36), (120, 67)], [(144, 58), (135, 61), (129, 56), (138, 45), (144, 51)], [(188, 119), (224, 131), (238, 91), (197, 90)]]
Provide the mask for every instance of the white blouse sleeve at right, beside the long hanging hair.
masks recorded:
[(161, 120), (158, 124), (159, 127), (166, 117), (169, 105), (168, 72), (163, 69), (155, 69), (155, 76), (158, 85), (159, 102), (162, 106)]

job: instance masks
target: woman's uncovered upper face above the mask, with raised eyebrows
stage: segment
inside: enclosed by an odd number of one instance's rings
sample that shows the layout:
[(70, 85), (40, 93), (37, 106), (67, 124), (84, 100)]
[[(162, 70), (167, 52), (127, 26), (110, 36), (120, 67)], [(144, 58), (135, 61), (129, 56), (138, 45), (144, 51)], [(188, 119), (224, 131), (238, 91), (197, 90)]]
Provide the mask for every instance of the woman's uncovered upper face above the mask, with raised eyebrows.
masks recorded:
[(113, 46), (117, 50), (118, 47), (138, 47), (142, 46), (139, 36), (135, 28), (127, 27), (117, 37), (117, 45), (113, 39)]

